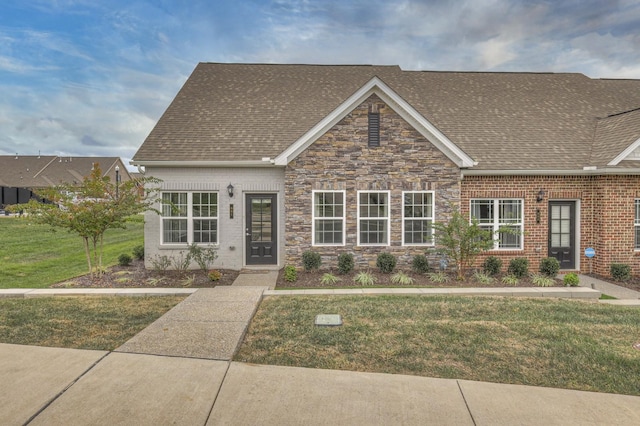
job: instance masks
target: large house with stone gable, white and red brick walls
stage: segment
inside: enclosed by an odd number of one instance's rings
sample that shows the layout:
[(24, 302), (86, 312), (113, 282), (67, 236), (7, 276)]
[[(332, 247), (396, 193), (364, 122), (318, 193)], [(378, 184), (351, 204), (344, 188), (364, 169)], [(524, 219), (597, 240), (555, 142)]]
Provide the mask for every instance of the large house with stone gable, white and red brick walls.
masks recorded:
[(193, 242), (230, 269), (409, 262), (459, 208), (519, 231), (505, 262), (640, 273), (640, 80), (201, 63), (132, 164), (162, 180), (147, 262)]

